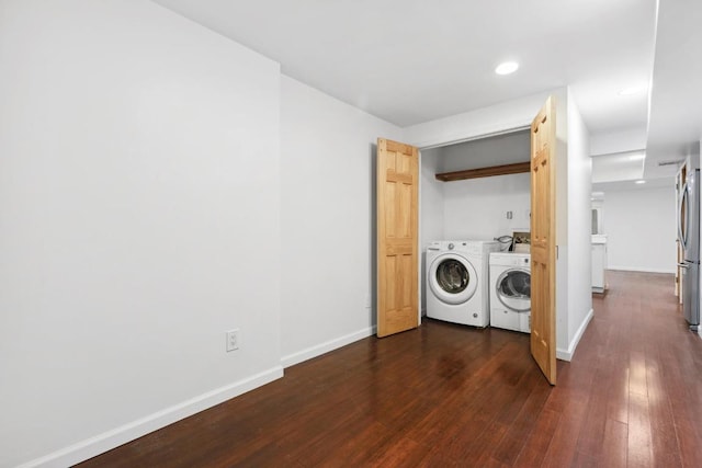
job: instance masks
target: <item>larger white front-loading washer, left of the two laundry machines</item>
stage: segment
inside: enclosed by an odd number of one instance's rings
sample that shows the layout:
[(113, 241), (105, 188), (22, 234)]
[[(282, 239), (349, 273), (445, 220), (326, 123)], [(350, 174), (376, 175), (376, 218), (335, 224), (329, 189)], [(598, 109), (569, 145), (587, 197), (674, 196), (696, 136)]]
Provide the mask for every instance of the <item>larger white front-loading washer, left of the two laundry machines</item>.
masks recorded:
[(427, 317), (485, 328), (490, 322), (488, 258), (499, 242), (443, 240), (427, 248)]

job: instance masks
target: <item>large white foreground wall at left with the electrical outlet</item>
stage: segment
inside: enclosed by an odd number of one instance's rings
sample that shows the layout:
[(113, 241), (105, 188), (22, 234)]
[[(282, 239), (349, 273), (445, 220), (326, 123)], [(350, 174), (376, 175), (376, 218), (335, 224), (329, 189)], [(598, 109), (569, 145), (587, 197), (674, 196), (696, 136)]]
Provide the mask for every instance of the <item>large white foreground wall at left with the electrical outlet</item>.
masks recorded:
[(0, 466), (280, 377), (278, 64), (148, 1), (1, 10)]

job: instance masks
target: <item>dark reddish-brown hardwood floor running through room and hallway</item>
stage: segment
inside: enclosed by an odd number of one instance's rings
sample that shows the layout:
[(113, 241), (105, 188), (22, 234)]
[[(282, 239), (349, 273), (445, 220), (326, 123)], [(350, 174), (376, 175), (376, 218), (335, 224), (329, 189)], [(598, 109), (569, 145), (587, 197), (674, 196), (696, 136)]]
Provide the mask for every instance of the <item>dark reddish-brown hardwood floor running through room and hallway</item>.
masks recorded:
[(424, 320), (82, 467), (702, 467), (702, 340), (671, 275), (608, 272), (551, 387), (529, 335)]

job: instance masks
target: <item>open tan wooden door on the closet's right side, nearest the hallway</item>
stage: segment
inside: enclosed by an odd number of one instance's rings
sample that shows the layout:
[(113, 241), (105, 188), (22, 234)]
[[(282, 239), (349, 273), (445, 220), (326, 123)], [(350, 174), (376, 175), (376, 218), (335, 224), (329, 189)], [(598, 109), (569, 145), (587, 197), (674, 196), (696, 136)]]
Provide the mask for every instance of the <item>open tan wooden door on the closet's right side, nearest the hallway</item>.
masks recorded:
[(531, 354), (556, 384), (556, 123), (551, 96), (531, 124)]

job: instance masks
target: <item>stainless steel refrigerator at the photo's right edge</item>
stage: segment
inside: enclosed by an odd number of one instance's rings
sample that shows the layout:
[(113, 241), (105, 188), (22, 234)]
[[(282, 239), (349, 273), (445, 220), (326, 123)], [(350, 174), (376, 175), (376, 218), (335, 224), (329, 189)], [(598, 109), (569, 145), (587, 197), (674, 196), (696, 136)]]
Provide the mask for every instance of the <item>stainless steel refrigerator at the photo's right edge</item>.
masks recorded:
[(678, 239), (682, 246), (682, 315), (690, 330), (700, 327), (700, 170), (688, 174), (678, 201)]

